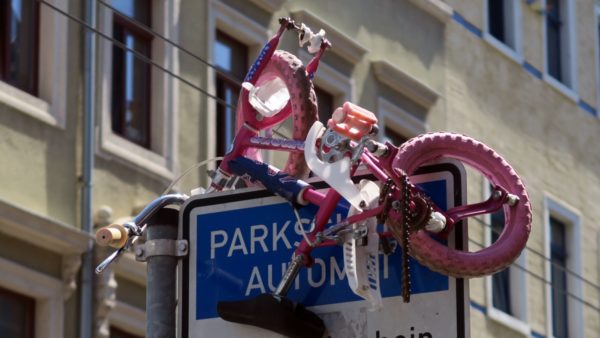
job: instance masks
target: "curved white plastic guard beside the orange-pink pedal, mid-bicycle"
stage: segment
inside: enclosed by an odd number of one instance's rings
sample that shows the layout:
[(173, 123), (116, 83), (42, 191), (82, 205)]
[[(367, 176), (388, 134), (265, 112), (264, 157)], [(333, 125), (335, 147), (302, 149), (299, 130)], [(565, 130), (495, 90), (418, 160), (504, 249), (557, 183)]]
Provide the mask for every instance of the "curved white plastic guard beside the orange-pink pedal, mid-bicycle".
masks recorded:
[(344, 157), (333, 163), (325, 163), (317, 156), (317, 139), (323, 134), (325, 128), (319, 121), (315, 121), (308, 131), (306, 142), (304, 143), (304, 159), (310, 170), (327, 182), (343, 198), (357, 210), (362, 210), (360, 203), (362, 197), (350, 179), (350, 159)]

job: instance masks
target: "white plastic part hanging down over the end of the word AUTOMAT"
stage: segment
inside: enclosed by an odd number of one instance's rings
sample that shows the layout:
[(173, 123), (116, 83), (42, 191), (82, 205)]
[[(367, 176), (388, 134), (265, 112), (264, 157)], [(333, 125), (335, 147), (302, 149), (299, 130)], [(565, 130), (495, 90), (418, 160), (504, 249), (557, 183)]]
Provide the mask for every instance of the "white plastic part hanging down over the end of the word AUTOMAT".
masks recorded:
[[(369, 207), (374, 207), (379, 198), (377, 184), (362, 180), (359, 183), (360, 194), (367, 201)], [(348, 216), (359, 213), (360, 210), (350, 207)], [(381, 289), (379, 287), (379, 234), (377, 233), (377, 220), (375, 217), (367, 219), (361, 224), (367, 227), (367, 245), (361, 246), (348, 236), (344, 242), (344, 268), (350, 289), (358, 296), (369, 302), (369, 310), (376, 311), (382, 307)]]

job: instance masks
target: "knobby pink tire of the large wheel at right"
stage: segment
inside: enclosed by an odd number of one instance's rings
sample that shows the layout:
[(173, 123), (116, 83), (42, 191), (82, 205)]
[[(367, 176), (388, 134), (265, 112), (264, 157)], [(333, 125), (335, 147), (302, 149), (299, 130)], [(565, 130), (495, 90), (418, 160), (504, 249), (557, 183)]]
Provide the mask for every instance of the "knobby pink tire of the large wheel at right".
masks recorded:
[(434, 271), (454, 277), (481, 277), (510, 265), (525, 248), (531, 231), (531, 205), (525, 187), (513, 168), (494, 150), (472, 138), (452, 133), (431, 133), (404, 143), (394, 159), (395, 168), (409, 175), (439, 157), (460, 160), (519, 197), (515, 206), (504, 206), (505, 226), (498, 240), (477, 252), (450, 249), (426, 231), (413, 233), (411, 255)]

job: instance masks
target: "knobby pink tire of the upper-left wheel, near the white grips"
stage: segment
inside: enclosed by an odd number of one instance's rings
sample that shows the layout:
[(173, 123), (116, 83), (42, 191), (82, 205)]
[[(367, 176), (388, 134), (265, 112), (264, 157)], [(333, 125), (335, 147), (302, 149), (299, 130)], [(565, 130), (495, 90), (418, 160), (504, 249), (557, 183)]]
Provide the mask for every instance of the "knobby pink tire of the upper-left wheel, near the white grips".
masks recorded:
[[(290, 94), (290, 104), (292, 108), (292, 138), (295, 140), (305, 140), (306, 135), (313, 123), (318, 119), (317, 98), (313, 84), (306, 74), (306, 70), (296, 56), (286, 51), (275, 51), (264, 71), (259, 76), (256, 85), (260, 86), (265, 80), (278, 77), (285, 83)], [(241, 95), (240, 95), (241, 97)], [(242, 105), (237, 108), (237, 128), (243, 123)], [(250, 151), (246, 156), (260, 159), (258, 151)], [(290, 152), (284, 172), (297, 177), (306, 178), (309, 174), (309, 168), (304, 160), (304, 153)]]

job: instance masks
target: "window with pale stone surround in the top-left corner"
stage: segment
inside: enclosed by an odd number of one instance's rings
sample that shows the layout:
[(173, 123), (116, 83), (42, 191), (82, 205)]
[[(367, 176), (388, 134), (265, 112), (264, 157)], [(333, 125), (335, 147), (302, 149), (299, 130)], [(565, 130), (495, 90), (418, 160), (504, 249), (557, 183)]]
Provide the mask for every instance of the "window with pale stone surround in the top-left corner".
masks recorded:
[[(68, 0), (46, 2), (68, 10)], [(65, 127), (67, 28), (67, 18), (37, 0), (0, 1), (0, 103)]]

